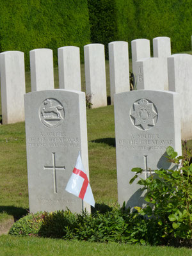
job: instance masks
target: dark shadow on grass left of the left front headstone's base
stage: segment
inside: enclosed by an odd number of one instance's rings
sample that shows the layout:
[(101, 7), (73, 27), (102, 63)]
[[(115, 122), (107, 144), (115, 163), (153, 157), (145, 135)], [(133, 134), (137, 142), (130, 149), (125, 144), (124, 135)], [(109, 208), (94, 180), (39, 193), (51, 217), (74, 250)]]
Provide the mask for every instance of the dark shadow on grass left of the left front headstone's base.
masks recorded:
[(6, 212), (8, 215), (12, 215), (14, 218), (14, 221), (19, 220), (22, 218), (24, 215), (28, 214), (28, 209), (24, 209), (21, 207), (15, 207), (13, 205), (10, 206), (0, 206), (0, 213), (1, 212)]

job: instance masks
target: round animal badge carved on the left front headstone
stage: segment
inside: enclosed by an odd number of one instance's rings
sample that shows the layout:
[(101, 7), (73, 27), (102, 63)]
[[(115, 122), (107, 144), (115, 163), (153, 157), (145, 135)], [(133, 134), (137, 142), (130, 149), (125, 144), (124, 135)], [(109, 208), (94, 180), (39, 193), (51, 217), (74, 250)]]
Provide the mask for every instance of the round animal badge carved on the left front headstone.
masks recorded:
[(46, 99), (40, 106), (40, 120), (42, 123), (49, 127), (58, 127), (65, 118), (65, 111), (63, 105), (59, 100)]

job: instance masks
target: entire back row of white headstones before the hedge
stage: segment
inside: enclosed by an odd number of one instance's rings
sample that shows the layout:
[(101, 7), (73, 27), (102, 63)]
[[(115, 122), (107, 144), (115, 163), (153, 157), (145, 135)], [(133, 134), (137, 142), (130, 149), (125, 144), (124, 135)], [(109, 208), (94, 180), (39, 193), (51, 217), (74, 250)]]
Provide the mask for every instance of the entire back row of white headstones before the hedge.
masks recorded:
[[(190, 108), (192, 97), (192, 56), (171, 55), (170, 38), (153, 40), (154, 58), (150, 58), (150, 41), (133, 40), (132, 70), (135, 87), (145, 90), (179, 92), (182, 111), (182, 139), (192, 138)], [(1, 104), (3, 124), (24, 120), (25, 93), (23, 52), (3, 52), (1, 58)], [(104, 45), (84, 46), (86, 93), (93, 108), (107, 105)], [(36, 49), (30, 52), (31, 91), (54, 88), (52, 50)], [(58, 49), (60, 88), (81, 90), (79, 47)], [(129, 86), (129, 54), (127, 42), (109, 43), (109, 71), (111, 103), (115, 93), (127, 92)]]

